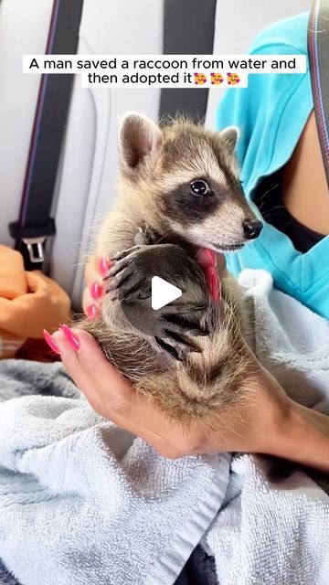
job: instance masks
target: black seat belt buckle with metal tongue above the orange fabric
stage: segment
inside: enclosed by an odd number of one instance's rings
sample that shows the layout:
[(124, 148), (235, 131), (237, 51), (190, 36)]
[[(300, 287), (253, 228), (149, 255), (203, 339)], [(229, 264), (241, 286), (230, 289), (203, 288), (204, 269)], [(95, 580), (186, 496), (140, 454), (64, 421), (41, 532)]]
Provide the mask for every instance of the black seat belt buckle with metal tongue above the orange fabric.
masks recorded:
[(50, 218), (47, 226), (36, 228), (21, 228), (19, 222), (14, 221), (9, 224), (9, 232), (18, 244), (25, 244), (32, 264), (42, 264), (45, 261), (46, 240), (56, 234), (55, 220)]

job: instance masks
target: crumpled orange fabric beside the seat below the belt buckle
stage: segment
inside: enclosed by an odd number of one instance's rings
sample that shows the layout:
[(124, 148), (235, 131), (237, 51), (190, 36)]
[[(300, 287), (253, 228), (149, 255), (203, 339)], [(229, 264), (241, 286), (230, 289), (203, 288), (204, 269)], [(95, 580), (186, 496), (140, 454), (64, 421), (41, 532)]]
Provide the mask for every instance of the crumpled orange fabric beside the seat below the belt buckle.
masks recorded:
[(28, 338), (42, 339), (69, 318), (69, 296), (41, 271), (25, 271), (23, 257), (0, 245), (0, 357), (16, 355)]

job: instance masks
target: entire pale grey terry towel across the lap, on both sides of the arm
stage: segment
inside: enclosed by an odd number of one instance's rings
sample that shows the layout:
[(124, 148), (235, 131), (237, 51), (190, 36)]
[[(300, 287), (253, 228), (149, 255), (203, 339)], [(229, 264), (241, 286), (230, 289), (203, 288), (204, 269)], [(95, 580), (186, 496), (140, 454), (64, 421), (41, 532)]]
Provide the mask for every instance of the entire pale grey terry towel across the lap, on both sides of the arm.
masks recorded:
[[(327, 321), (274, 291), (267, 272), (244, 271), (240, 282), (260, 361), (294, 399), (329, 412)], [(60, 366), (0, 363), (7, 391), (8, 375), (75, 396)], [(229, 463), (226, 454), (166, 461), (79, 399), (9, 400), (0, 558), (21, 585), (172, 585), (202, 537), (220, 585), (328, 585), (326, 478), (249, 455), (233, 458), (228, 477)]]

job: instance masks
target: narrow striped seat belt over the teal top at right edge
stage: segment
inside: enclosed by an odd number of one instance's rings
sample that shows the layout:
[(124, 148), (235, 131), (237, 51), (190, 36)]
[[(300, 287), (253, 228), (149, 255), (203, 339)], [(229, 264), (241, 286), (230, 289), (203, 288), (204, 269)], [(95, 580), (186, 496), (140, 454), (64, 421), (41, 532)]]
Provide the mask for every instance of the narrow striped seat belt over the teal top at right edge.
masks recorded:
[(308, 53), (314, 113), (329, 187), (329, 0), (315, 0), (309, 19)]

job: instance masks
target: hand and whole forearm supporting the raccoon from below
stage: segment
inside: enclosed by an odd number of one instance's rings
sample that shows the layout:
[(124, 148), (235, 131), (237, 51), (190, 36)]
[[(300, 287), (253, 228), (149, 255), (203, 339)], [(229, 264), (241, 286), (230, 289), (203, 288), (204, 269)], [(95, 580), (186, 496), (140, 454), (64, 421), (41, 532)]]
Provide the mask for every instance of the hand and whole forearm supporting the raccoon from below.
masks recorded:
[[(101, 273), (87, 270), (90, 288), (84, 309), (97, 310)], [(95, 287), (94, 283), (99, 286)], [(98, 293), (95, 295), (95, 290)], [(90, 311), (89, 311), (90, 313)], [(73, 330), (80, 348), (75, 351), (63, 332), (53, 335), (64, 366), (101, 416), (142, 437), (165, 457), (187, 453), (259, 452), (329, 471), (329, 418), (306, 409), (287, 397), (278, 382), (254, 356), (245, 382), (249, 399), (239, 414), (226, 420), (225, 428), (210, 430), (192, 424), (188, 430), (169, 421), (154, 404), (137, 394), (107, 361), (96, 341), (86, 332)]]

